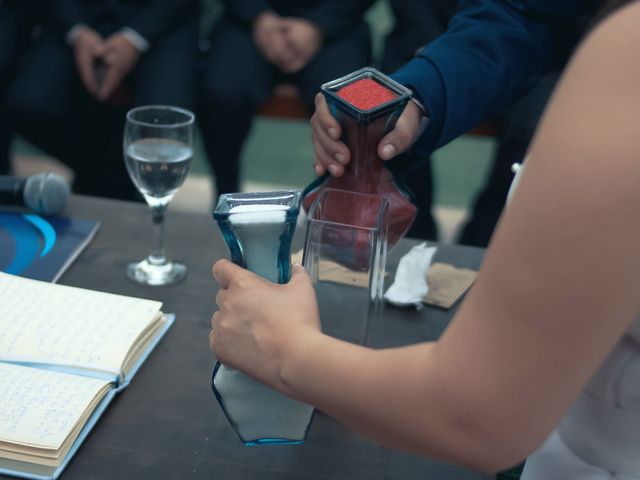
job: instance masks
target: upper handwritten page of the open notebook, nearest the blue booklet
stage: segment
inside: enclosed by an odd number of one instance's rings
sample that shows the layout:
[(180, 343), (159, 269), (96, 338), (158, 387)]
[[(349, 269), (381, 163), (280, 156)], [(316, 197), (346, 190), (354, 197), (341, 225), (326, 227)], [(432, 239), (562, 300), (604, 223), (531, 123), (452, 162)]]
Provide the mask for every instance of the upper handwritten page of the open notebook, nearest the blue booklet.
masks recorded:
[(0, 274), (0, 360), (117, 373), (160, 306)]

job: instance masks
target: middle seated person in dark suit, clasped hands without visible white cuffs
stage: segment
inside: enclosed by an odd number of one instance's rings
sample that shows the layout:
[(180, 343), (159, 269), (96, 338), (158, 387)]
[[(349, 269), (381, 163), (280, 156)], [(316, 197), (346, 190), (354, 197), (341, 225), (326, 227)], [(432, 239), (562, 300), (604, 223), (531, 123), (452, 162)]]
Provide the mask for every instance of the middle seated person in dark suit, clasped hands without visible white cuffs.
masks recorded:
[(198, 112), (218, 194), (240, 190), (240, 150), (276, 84), (310, 111), (320, 85), (370, 62), (371, 0), (224, 0), (211, 33)]

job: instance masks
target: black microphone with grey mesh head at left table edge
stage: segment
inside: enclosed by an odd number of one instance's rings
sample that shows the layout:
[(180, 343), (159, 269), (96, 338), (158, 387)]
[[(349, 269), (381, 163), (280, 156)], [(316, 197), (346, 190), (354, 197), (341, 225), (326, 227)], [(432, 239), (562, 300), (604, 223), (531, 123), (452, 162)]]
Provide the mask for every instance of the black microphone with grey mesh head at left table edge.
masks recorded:
[(69, 194), (69, 185), (55, 173), (27, 178), (0, 175), (0, 205), (19, 205), (44, 215), (56, 215), (64, 210)]

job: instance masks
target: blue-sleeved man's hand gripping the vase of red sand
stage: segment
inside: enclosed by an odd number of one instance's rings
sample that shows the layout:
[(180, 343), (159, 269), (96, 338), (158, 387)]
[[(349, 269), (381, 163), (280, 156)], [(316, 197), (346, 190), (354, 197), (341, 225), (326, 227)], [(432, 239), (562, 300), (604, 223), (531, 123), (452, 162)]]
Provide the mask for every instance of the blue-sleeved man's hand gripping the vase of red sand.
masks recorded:
[[(351, 152), (340, 141), (340, 125), (331, 115), (321, 93), (316, 95), (315, 103), (316, 111), (311, 117), (311, 140), (315, 151), (313, 167), (316, 175), (323, 175), (328, 170), (334, 177), (340, 177), (351, 160)], [(390, 160), (411, 147), (422, 133), (423, 118), (420, 107), (409, 102), (394, 129), (380, 140), (378, 156), (382, 160)]]

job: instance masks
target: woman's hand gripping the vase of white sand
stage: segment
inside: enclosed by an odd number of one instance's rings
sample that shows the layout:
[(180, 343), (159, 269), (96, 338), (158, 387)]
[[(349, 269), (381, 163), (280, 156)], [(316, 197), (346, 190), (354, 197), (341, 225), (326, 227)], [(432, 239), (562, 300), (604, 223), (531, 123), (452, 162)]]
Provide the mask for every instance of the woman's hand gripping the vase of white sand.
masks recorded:
[(213, 276), (220, 289), (219, 310), (211, 318), (211, 351), (225, 365), (283, 390), (286, 359), (320, 334), (311, 279), (295, 266), (289, 283), (278, 285), (228, 260), (215, 263)]

